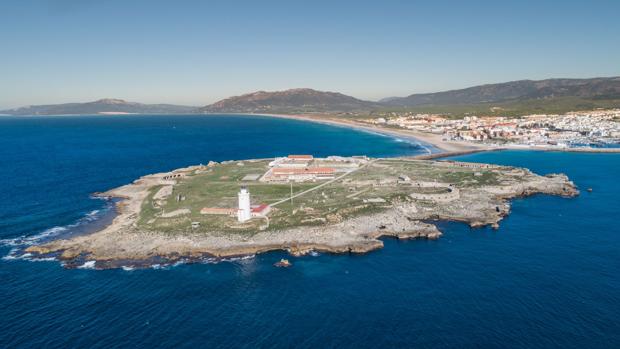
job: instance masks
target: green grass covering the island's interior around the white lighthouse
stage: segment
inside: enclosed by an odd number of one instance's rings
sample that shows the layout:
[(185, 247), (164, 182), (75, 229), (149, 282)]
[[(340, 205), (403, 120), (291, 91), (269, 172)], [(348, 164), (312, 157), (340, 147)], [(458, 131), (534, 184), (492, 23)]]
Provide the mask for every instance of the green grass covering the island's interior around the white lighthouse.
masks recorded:
[[(242, 165), (240, 165), (242, 164)], [(471, 169), (424, 160), (383, 159), (362, 168), (342, 180), (273, 207), (269, 218), (238, 223), (236, 217), (203, 215), (203, 207), (236, 208), (237, 193), (247, 186), (252, 204), (271, 204), (290, 197), (290, 183), (243, 181), (248, 174), (263, 174), (268, 161), (227, 162), (205, 167), (180, 180), (172, 194), (157, 202), (153, 197), (162, 188), (151, 189), (144, 201), (138, 225), (147, 230), (165, 233), (199, 232), (248, 234), (261, 230), (279, 230), (300, 225), (321, 225), (339, 222), (357, 215), (379, 212), (395, 202), (412, 200), (408, 194), (420, 192), (399, 182), (401, 175), (412, 181), (436, 181), (457, 187), (475, 187), (498, 183), (497, 170)], [(313, 188), (321, 182), (293, 183), (293, 194)], [(424, 189), (429, 193), (444, 189)], [(184, 211), (179, 211), (184, 210)], [(189, 210), (189, 213), (187, 212)], [(178, 216), (162, 217), (162, 214)], [(192, 228), (192, 222), (200, 226)]]

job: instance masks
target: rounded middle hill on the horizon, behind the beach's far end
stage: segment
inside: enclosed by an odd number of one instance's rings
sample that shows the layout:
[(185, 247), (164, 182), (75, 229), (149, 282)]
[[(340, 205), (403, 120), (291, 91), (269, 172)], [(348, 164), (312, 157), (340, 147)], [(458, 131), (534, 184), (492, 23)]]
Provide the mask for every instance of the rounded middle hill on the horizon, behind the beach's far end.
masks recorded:
[(382, 107), (336, 92), (308, 88), (277, 92), (259, 91), (230, 97), (206, 107), (202, 113), (303, 113), (371, 110)]

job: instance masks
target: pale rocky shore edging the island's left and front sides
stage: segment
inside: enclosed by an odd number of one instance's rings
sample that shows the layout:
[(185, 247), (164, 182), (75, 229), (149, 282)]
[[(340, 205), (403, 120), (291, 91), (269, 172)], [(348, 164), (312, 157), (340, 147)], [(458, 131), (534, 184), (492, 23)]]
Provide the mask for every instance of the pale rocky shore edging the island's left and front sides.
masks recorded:
[(357, 216), (329, 225), (299, 226), (284, 230), (243, 234), (166, 234), (143, 231), (137, 220), (143, 201), (154, 186), (174, 183), (175, 175), (197, 167), (141, 177), (131, 184), (100, 196), (122, 198), (112, 224), (98, 232), (56, 240), (26, 249), (37, 257), (56, 257), (65, 267), (89, 265), (96, 269), (131, 265), (145, 267), (178, 261), (221, 260), (283, 250), (293, 256), (316, 252), (366, 253), (383, 247), (382, 237), (438, 239), (442, 234), (433, 221), (451, 220), (472, 227), (498, 227), (509, 214), (509, 200), (542, 193), (572, 197), (579, 194), (565, 175), (538, 176), (519, 169), (527, 178), (519, 185), (493, 185), (461, 189), (456, 201), (424, 208), (415, 201), (391, 204), (379, 213)]

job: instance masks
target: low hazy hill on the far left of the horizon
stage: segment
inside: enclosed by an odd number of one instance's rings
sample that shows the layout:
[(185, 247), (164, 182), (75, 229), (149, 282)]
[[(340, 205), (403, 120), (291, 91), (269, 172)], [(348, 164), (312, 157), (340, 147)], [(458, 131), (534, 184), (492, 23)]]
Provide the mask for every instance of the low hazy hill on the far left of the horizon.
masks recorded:
[(196, 107), (172, 104), (142, 104), (127, 102), (122, 99), (100, 99), (87, 103), (65, 103), (50, 105), (33, 105), (28, 107), (0, 111), (9, 115), (70, 115), (99, 113), (136, 113), (136, 114), (185, 114), (192, 113)]

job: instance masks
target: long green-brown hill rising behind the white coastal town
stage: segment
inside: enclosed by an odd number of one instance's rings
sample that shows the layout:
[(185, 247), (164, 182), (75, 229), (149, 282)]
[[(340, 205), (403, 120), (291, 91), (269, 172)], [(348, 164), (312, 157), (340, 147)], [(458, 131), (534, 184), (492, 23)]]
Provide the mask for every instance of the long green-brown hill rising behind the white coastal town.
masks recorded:
[(417, 107), (518, 102), (562, 97), (592, 100), (620, 99), (620, 77), (519, 80), (445, 92), (390, 97), (380, 102), (391, 107)]

